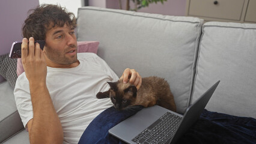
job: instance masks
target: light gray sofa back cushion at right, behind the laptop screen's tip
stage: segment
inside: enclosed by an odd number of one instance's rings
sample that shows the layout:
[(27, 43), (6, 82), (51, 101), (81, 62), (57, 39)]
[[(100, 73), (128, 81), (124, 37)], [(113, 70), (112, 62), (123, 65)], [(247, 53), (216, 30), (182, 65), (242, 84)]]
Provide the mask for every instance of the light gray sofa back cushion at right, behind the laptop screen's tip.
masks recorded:
[(208, 110), (256, 118), (256, 24), (203, 26), (192, 101), (217, 80)]

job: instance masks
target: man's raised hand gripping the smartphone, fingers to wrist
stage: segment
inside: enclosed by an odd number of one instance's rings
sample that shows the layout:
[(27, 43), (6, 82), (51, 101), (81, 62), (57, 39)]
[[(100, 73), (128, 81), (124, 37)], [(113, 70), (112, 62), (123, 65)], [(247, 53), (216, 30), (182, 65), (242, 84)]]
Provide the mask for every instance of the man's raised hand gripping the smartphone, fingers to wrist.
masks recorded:
[(47, 67), (43, 51), (34, 38), (22, 40), (22, 65), (29, 83), (46, 82)]

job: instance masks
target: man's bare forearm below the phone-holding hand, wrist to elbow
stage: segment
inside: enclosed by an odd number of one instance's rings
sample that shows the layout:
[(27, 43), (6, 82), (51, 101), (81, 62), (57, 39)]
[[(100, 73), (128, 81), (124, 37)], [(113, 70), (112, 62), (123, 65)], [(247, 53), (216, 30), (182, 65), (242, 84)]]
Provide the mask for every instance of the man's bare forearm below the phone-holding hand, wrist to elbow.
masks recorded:
[(30, 143), (62, 143), (61, 123), (46, 86), (29, 87), (34, 89), (30, 89), (34, 116), (27, 124)]

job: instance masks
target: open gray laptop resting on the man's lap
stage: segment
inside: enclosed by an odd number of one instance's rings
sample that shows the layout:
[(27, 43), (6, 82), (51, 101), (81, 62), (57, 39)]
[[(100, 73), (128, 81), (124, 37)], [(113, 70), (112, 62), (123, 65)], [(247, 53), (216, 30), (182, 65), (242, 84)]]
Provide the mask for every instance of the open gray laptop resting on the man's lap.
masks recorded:
[(115, 125), (109, 133), (126, 143), (175, 143), (195, 124), (219, 82), (187, 107), (184, 115), (155, 105)]

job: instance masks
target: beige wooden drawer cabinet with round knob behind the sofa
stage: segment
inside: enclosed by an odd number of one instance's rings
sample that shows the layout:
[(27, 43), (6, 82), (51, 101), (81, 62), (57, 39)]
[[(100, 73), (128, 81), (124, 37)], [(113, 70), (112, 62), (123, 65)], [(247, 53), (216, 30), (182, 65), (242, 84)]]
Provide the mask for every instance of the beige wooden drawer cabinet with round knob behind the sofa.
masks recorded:
[(187, 0), (186, 16), (206, 22), (256, 23), (256, 0)]

